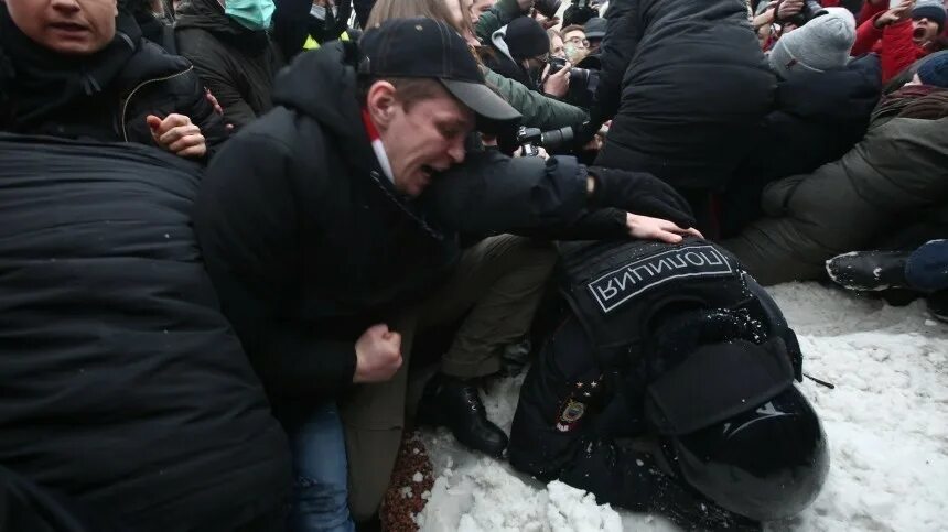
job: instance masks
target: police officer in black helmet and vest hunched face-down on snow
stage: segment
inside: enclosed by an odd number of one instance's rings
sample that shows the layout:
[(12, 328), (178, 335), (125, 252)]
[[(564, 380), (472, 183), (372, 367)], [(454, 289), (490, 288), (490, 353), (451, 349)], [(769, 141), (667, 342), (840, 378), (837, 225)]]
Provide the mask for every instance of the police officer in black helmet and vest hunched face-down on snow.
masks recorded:
[(829, 467), (767, 293), (708, 241), (560, 246), (568, 316), (520, 391), (509, 458), (689, 529), (794, 515)]

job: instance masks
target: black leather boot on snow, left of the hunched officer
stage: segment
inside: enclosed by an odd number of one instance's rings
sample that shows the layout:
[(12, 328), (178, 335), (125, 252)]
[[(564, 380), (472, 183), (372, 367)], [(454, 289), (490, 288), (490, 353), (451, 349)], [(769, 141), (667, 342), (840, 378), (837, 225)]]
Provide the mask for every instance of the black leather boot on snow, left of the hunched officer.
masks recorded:
[(491, 456), (500, 456), (507, 448), (507, 435), (487, 419), (477, 388), (454, 377), (435, 373), (428, 381), (418, 421), (446, 426), (459, 442)]

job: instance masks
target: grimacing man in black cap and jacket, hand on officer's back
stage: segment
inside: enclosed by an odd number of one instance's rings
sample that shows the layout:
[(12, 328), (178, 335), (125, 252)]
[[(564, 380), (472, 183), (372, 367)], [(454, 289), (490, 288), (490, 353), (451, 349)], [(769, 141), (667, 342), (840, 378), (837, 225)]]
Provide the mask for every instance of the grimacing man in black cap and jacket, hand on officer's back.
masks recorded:
[[(358, 46), (301, 54), (273, 100), (208, 167), (195, 227), (223, 310), (290, 436), (293, 529), (347, 529), (349, 510), (371, 519), (388, 486), (417, 329), (463, 317), (425, 390), (425, 417), (468, 447), (506, 447), (473, 379), (497, 372), (500, 348), (527, 333), (556, 254), (500, 234), (573, 224), (588, 196), (636, 197), (623, 207), (691, 220), (650, 176), (593, 175), (571, 159), (467, 158), (475, 127), (495, 131), (519, 116), (441, 22), (392, 20)], [(600, 234), (685, 232), (622, 211), (607, 218)], [(462, 232), (499, 236), (462, 249)]]

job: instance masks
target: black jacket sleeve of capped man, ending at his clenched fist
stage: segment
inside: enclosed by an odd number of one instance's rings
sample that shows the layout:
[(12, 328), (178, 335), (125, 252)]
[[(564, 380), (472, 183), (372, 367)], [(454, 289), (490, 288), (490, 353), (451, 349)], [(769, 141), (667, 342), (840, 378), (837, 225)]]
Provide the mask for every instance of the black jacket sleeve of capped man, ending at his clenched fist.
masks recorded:
[(268, 391), (335, 397), (352, 383), (354, 341), (322, 338), (314, 324), (281, 312), (301, 274), (292, 265), (298, 220), (289, 153), (270, 137), (231, 139), (207, 170), (195, 230), (224, 314)]

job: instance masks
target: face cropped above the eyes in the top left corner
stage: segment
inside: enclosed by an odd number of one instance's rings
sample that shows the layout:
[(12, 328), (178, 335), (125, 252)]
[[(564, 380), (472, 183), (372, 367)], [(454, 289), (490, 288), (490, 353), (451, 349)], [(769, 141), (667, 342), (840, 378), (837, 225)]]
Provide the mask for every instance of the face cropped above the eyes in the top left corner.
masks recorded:
[(28, 37), (61, 54), (94, 54), (116, 34), (116, 0), (7, 0), (7, 9)]

